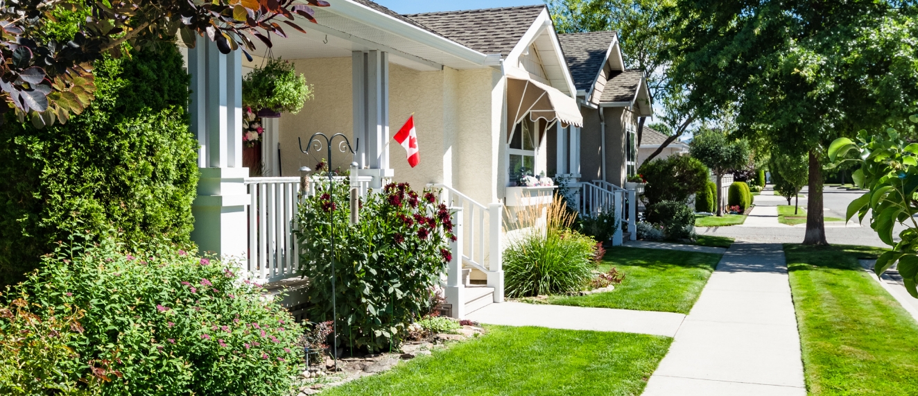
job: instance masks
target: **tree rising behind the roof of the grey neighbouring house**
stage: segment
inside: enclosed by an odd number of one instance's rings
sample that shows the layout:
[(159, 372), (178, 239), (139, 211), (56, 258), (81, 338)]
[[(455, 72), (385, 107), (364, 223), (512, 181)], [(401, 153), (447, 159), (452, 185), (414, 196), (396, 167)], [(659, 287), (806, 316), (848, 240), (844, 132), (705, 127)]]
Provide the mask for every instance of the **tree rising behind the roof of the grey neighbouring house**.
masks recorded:
[[(668, 31), (673, 23), (670, 10), (675, 6), (674, 0), (549, 0), (547, 3), (559, 33), (615, 30), (625, 65), (646, 74), (650, 96), (664, 107), (659, 119), (667, 128), (655, 127), (655, 130), (666, 134), (667, 139), (644, 163), (653, 160), (689, 129), (695, 118), (683, 111), (684, 88), (672, 85), (668, 77), (673, 60), (666, 57), (666, 51), (672, 45)], [(644, 119), (641, 119), (638, 145), (643, 132)]]

